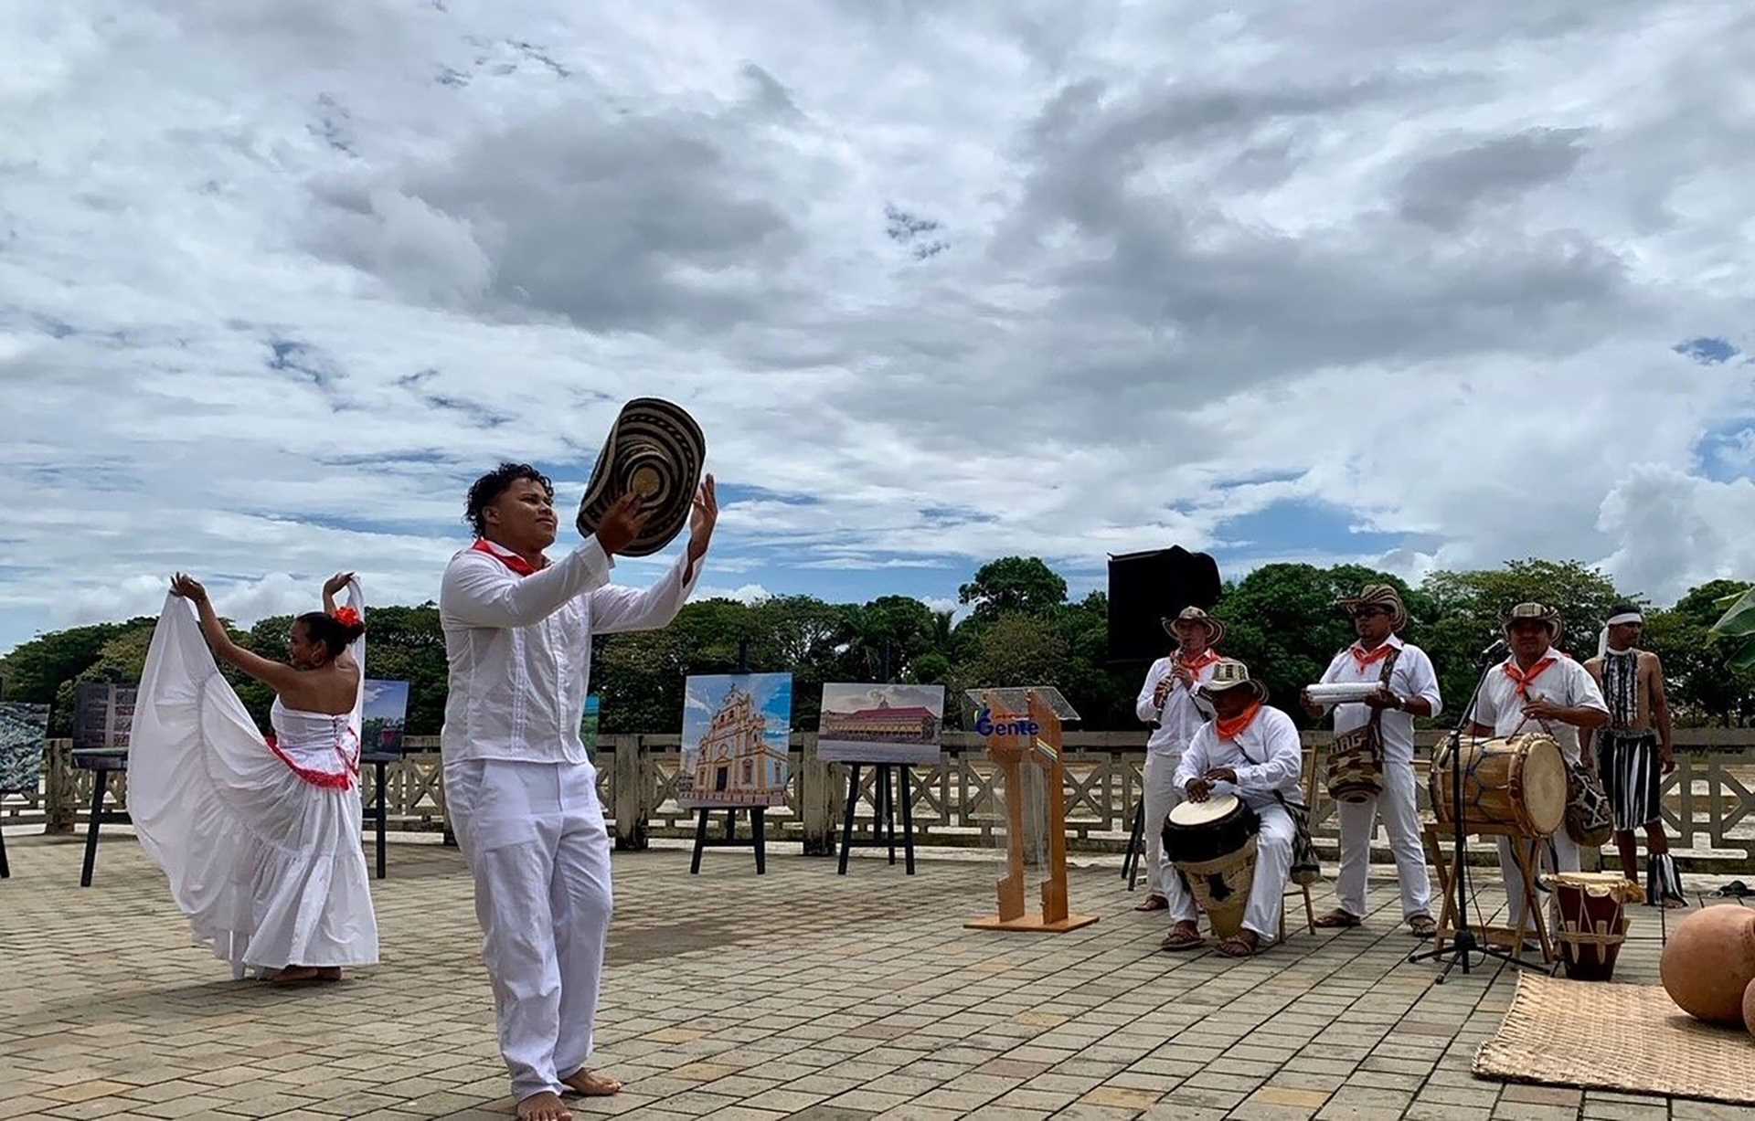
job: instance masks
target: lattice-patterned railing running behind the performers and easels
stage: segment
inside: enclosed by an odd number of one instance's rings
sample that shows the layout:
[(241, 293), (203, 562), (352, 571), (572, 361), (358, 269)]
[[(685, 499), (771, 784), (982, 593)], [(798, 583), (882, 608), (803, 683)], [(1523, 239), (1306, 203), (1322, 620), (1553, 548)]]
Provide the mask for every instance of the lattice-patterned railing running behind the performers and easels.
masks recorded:
[[(1420, 805), (1429, 812), (1425, 767), (1439, 737), (1420, 737), (1416, 772)], [(1304, 733), (1306, 767), (1330, 737)], [(411, 737), (405, 754), (386, 768), (391, 828), (444, 830), (444, 768), (433, 737)], [(767, 814), (769, 837), (804, 844), (806, 853), (834, 853), (846, 803), (846, 767), (816, 758), (816, 735), (792, 737), (792, 781), (786, 805)], [(693, 810), (676, 802), (681, 768), (679, 737), (605, 735), (598, 739), (598, 795), (620, 849), (644, 849), (653, 839), (693, 837)], [(1143, 796), (1144, 737), (1085, 732), (1067, 735), (1067, 840), (1072, 851), (1120, 853), (1127, 846), (1134, 807)], [(1306, 770), (1306, 774), (1309, 774)], [(126, 809), (126, 781), (111, 779), (107, 805)], [(365, 768), (365, 800), (377, 796)], [(913, 818), (921, 846), (985, 846), (992, 842), (992, 767), (981, 742), (946, 733), (935, 765), (914, 767)], [(1320, 784), (1318, 784), (1320, 789)], [(1755, 730), (1688, 728), (1676, 733), (1676, 772), (1664, 779), (1664, 825), (1683, 867), (1713, 872), (1755, 872)], [(67, 740), (51, 740), (44, 784), (35, 795), (0, 800), (0, 825), (40, 823), (70, 832), (88, 812), (91, 772), (72, 765)], [(872, 828), (872, 768), (862, 768), (855, 821)], [(1337, 847), (1334, 803), (1318, 796), (1313, 833), (1332, 858)], [(1379, 833), (1379, 846), (1381, 833)], [(1381, 858), (1386, 858), (1386, 846)]]

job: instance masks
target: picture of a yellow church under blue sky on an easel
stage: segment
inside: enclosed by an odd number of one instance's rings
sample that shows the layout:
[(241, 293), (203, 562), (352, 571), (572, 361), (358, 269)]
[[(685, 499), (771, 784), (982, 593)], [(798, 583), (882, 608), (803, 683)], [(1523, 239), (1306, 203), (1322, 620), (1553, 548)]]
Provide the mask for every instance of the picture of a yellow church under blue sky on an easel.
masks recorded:
[(683, 809), (786, 803), (792, 674), (713, 674), (683, 684)]

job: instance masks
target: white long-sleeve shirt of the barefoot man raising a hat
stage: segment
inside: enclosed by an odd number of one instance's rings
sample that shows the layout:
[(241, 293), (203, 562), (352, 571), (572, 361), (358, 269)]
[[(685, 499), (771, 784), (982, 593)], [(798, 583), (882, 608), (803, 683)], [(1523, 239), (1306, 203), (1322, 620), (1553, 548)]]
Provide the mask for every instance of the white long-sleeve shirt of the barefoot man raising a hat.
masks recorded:
[[(688, 556), (651, 588), (609, 584), (614, 561), (586, 539), (560, 561), (519, 575), (493, 542), (451, 558), (439, 591), (449, 686), (439, 746), (446, 763), (584, 763), (579, 739), (591, 635), (655, 630), (681, 610), (700, 565)], [(706, 560), (706, 558), (702, 558)]]

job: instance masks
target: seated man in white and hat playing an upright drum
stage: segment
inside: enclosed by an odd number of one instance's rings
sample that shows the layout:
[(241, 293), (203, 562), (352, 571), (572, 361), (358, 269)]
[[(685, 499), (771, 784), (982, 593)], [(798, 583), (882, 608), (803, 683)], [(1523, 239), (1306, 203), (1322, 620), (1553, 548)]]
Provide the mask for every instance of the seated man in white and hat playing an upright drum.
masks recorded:
[[(1297, 837), (1283, 802), (1300, 802), (1304, 747), (1292, 718), (1267, 705), (1267, 686), (1251, 681), (1250, 667), (1236, 658), (1213, 665), (1213, 677), (1200, 686), (1200, 696), (1213, 705), (1214, 716), (1188, 742), (1176, 768), (1176, 786), (1190, 802), (1234, 793), (1262, 819), (1243, 930), (1218, 946), (1227, 958), (1248, 958), (1279, 932)], [(1193, 923), (1178, 923), (1178, 930), (1183, 926), (1197, 935)]]

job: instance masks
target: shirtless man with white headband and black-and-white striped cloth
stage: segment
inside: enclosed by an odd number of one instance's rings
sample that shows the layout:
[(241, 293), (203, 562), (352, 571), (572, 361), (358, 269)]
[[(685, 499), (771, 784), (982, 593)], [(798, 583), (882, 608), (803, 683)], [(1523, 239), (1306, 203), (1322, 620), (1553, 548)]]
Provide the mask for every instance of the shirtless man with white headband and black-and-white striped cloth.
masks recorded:
[[(1632, 603), (1609, 612), (1597, 642), (1597, 656), (1585, 663), (1590, 679), (1609, 705), (1609, 725), (1585, 732), (1585, 767), (1595, 767), (1615, 810), (1615, 847), (1622, 853), (1622, 875), (1637, 881), (1639, 839), (1644, 830), (1651, 863), (1646, 898), (1655, 905), (1687, 907), (1676, 858), (1669, 854), (1658, 807), (1662, 775), (1676, 770), (1676, 746), (1664, 698), (1664, 667), (1651, 651), (1637, 649), (1644, 616)], [(1595, 739), (1595, 751), (1592, 751)], [(1662, 770), (1660, 770), (1662, 768)]]

